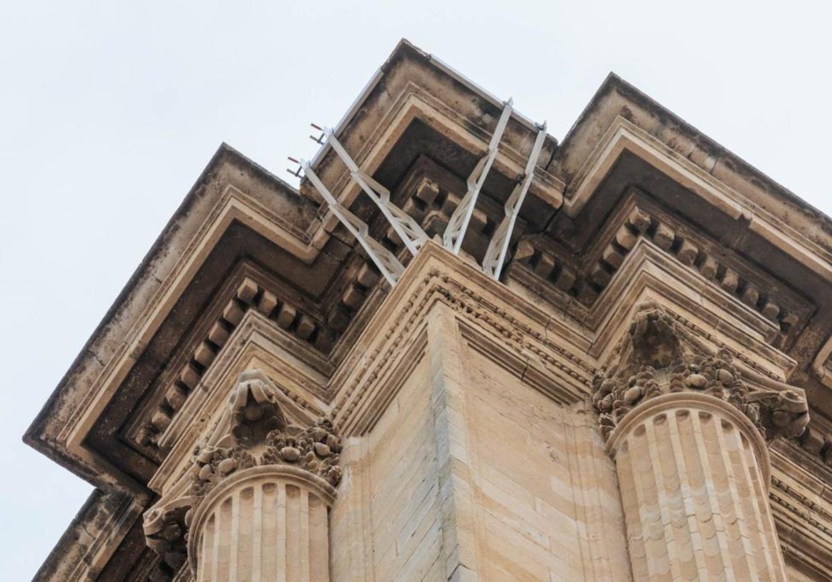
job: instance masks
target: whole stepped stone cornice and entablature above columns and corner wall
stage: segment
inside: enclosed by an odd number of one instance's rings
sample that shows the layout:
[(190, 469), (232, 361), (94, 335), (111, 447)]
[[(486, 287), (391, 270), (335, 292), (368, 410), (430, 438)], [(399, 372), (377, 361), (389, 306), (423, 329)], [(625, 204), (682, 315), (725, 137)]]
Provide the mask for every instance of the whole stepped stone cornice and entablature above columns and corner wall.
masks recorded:
[[(403, 41), (335, 132), (441, 238), (502, 108)], [(610, 76), (562, 145), (545, 137), (495, 282), (478, 264), (536, 136), (522, 115), (509, 119), (463, 260), (436, 244), (410, 259), (337, 156), (321, 151), (314, 170), (403, 261), (393, 289), (306, 181), (295, 190), (221, 146), (25, 440), (106, 491), (104, 509), (88, 513), (100, 525), (109, 511), (99, 530), (128, 540), (125, 515), (171, 476), (174, 456), (190, 454), (181, 443), (193, 417), (215, 406), (228, 374), (265, 353), (294, 358), (291, 371), (267, 371), (286, 378), (275, 382), (286, 410), (305, 421), (332, 412), (349, 436), (374, 422), (384, 394), (373, 391), (394, 391), (397, 363), (421, 341), (404, 338), (420, 337), (414, 322), (430, 308), (461, 314), (474, 349), (503, 354), (563, 403), (591, 392), (633, 306), (662, 298), (679, 326), (744, 372), (805, 390), (812, 422), (790, 446), (807, 474), (828, 470), (830, 219)], [(494, 311), (489, 293), (515, 311)], [(384, 388), (371, 381), (385, 374)], [(121, 509), (106, 509), (113, 500)], [(96, 567), (109, 559), (91, 556)]]

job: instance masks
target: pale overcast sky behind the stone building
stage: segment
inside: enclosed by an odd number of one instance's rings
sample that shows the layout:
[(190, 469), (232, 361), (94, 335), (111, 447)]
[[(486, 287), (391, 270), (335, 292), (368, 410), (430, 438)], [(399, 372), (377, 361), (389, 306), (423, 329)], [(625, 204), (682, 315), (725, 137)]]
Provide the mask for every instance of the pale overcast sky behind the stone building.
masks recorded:
[(20, 437), (217, 146), (288, 179), (400, 37), (558, 139), (617, 72), (832, 213), (829, 2), (349, 4), (0, 3), (0, 580), (91, 491)]

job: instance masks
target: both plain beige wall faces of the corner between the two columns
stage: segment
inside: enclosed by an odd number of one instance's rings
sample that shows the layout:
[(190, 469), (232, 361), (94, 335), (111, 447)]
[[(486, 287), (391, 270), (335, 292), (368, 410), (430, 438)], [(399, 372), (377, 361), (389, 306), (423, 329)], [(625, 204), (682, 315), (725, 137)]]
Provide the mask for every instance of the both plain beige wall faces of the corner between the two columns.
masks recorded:
[(631, 580), (614, 464), (584, 403), (471, 348), (450, 310), (345, 443), (332, 580)]

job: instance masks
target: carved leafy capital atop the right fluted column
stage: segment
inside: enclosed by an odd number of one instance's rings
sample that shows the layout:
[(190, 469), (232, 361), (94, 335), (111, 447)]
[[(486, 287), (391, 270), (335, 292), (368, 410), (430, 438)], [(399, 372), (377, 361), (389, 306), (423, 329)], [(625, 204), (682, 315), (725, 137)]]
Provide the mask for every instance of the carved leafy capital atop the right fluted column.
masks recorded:
[(641, 402), (682, 391), (710, 394), (729, 402), (745, 413), (767, 440), (800, 437), (809, 422), (802, 393), (785, 385), (750, 389), (725, 348), (711, 353), (659, 303), (642, 303), (615, 363), (593, 378), (592, 404), (599, 414), (602, 436), (606, 439)]

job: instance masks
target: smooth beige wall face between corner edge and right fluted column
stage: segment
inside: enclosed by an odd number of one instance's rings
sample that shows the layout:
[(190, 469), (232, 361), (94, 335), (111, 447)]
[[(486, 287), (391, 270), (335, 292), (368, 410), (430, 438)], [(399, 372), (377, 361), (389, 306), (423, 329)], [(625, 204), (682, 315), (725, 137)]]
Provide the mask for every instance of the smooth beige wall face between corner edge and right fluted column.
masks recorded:
[(481, 580), (629, 580), (614, 466), (565, 408), (463, 349)]

